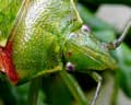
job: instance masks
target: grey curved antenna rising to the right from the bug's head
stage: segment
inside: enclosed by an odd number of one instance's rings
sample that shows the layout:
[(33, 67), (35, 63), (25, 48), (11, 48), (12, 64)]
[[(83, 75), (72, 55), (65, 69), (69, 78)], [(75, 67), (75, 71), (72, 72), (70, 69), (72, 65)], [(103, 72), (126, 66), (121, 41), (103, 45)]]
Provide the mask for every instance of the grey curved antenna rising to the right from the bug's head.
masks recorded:
[(116, 39), (115, 42), (106, 45), (107, 48), (109, 50), (116, 49), (122, 43), (122, 40), (124, 39), (124, 37), (128, 34), (130, 27), (131, 27), (131, 21), (129, 21), (129, 23), (127, 24), (126, 28), (123, 30), (122, 34), (120, 35), (120, 37), (118, 39)]

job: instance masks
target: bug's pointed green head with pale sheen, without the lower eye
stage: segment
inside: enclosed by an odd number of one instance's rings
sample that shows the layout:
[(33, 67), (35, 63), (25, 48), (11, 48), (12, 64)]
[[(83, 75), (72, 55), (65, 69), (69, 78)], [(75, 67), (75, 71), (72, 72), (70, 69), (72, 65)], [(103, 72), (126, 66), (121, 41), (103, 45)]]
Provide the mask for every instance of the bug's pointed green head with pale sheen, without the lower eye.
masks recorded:
[(86, 25), (67, 37), (63, 56), (66, 61), (73, 63), (76, 70), (116, 68), (116, 61), (109, 55), (105, 43), (92, 35)]

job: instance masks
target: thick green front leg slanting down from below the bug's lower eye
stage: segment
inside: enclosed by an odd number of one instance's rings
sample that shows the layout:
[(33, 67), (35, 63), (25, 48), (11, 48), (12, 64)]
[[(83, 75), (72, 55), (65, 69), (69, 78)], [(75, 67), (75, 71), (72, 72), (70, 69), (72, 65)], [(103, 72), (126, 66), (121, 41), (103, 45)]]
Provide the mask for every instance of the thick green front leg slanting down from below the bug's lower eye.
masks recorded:
[(73, 94), (74, 98), (78, 101), (79, 105), (88, 105), (86, 97), (84, 93), (82, 92), (82, 89), (80, 88), (78, 82), (74, 80), (74, 78), (71, 77), (64, 70), (60, 71), (60, 77), (62, 78), (63, 82), (67, 84), (67, 86)]

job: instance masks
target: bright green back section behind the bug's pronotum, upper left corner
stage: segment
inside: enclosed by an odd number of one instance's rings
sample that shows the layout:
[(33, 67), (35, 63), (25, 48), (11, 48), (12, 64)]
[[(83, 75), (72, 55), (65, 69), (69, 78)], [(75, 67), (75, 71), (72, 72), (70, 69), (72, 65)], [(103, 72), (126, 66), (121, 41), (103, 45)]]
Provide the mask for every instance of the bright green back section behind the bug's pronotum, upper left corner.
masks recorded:
[[(0, 44), (4, 44), (10, 34), (22, 0), (0, 0)], [(3, 43), (2, 43), (3, 42)]]

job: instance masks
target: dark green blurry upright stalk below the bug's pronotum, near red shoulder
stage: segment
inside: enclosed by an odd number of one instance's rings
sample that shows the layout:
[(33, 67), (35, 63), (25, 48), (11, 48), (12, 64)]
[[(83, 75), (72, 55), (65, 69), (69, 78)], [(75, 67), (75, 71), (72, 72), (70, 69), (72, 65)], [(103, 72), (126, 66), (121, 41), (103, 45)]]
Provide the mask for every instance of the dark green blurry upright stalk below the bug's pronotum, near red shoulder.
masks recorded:
[(41, 81), (40, 78), (36, 78), (31, 81), (27, 105), (37, 105), (40, 81)]

